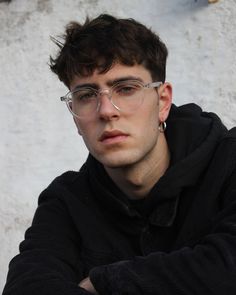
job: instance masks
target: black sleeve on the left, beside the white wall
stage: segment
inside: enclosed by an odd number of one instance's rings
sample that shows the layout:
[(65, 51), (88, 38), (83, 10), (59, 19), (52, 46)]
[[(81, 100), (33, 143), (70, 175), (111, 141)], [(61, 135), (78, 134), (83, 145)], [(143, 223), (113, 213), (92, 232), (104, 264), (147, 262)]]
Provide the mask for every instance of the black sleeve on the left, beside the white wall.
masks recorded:
[(77, 236), (63, 201), (45, 190), (20, 254), (10, 262), (3, 295), (90, 294), (78, 287), (83, 267)]

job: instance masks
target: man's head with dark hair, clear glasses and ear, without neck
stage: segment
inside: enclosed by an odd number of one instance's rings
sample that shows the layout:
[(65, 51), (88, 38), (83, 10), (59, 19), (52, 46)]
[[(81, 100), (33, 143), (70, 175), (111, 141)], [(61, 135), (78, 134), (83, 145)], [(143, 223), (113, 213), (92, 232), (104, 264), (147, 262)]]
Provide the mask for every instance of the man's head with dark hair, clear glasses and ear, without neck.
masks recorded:
[(63, 100), (89, 152), (107, 169), (158, 162), (166, 154), (158, 126), (172, 98), (159, 37), (134, 20), (101, 15), (71, 23), (57, 44), (51, 69), (70, 89)]

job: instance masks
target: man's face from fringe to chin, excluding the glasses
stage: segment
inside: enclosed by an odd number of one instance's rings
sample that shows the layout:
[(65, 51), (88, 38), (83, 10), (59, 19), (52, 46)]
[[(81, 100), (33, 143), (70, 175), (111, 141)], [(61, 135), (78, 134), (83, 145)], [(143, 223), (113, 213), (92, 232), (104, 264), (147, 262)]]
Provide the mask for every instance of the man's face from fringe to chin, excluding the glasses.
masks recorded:
[[(142, 65), (115, 64), (104, 74), (95, 71), (89, 77), (75, 77), (70, 89), (83, 84), (95, 84), (99, 89), (108, 89), (112, 81), (125, 77), (140, 79), (144, 84), (152, 82), (150, 72)], [(100, 105), (92, 115), (74, 118), (89, 152), (105, 167), (134, 165), (158, 153), (159, 121), (167, 118), (171, 103), (171, 97), (163, 99), (161, 92), (168, 90), (163, 88), (165, 85), (158, 90), (145, 89), (143, 103), (132, 112), (119, 111), (112, 105), (108, 95), (103, 93), (99, 97)]]

